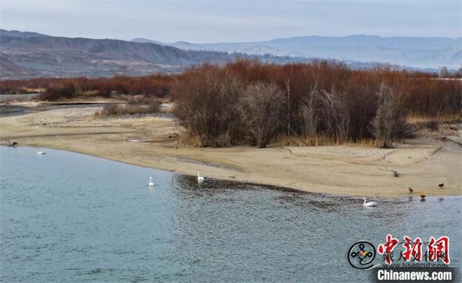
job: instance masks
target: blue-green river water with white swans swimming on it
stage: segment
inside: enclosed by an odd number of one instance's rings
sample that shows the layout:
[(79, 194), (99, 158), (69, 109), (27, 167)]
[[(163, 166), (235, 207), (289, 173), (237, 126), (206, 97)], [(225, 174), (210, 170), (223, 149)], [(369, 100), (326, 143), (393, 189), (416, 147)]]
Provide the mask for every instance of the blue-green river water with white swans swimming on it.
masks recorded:
[[(448, 235), (461, 197), (375, 199), (185, 177), (78, 153), (0, 146), (3, 282), (358, 282), (346, 254), (387, 233)], [(148, 188), (149, 177), (155, 182)], [(376, 258), (376, 263), (379, 263)]]

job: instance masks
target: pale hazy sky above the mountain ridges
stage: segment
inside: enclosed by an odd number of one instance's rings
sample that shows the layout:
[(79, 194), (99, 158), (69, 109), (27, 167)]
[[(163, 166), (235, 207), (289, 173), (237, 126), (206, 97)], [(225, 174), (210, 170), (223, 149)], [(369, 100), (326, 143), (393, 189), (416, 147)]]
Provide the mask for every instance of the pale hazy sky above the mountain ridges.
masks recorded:
[(2, 29), (160, 41), (461, 36), (461, 0), (0, 0)]

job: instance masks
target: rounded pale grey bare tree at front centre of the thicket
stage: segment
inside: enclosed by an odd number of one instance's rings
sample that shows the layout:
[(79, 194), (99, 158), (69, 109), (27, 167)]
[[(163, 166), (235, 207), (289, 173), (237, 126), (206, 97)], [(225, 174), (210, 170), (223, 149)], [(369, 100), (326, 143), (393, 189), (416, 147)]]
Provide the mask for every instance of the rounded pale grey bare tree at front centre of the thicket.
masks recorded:
[(265, 148), (281, 128), (283, 111), (283, 92), (274, 83), (249, 85), (239, 101), (243, 123), (259, 148)]

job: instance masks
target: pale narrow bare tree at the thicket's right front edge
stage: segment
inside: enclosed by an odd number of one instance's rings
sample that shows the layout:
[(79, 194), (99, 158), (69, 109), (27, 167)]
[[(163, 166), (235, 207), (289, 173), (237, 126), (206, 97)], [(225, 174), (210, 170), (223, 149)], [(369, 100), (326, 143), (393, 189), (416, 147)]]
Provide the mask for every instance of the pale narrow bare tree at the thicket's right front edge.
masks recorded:
[(379, 105), (372, 120), (372, 134), (380, 148), (389, 149), (397, 138), (411, 134), (412, 128), (406, 122), (405, 111), (393, 89), (382, 83), (378, 95)]

